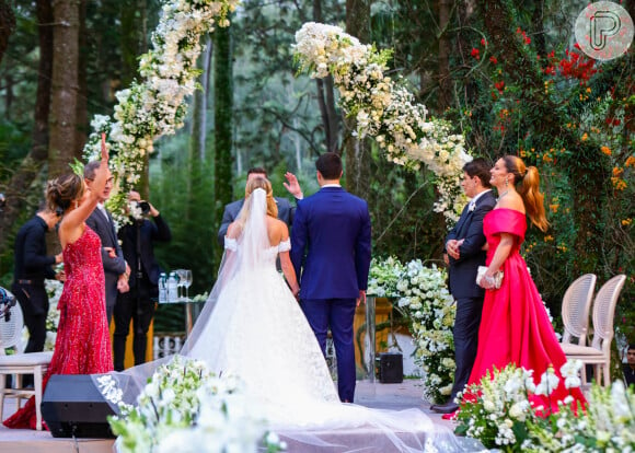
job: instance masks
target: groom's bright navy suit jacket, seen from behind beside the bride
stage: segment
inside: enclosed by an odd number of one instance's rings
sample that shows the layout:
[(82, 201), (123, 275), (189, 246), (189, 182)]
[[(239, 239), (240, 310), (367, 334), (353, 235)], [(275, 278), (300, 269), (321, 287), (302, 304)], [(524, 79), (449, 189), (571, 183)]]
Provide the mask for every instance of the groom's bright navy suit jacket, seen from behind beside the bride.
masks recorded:
[(368, 286), (370, 245), (366, 200), (331, 186), (298, 201), (290, 255), (300, 298), (357, 299)]

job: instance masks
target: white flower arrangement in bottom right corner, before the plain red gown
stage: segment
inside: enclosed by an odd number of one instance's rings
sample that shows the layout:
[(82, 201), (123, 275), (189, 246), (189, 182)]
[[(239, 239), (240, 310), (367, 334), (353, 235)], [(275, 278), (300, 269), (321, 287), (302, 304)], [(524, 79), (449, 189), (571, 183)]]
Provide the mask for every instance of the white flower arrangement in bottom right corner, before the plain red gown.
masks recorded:
[[(569, 360), (561, 368), (566, 388), (580, 385), (582, 363)], [(529, 395), (550, 395), (558, 380), (547, 369), (536, 385), (533, 371), (507, 365), (469, 388), (459, 413), (458, 433), (476, 438), (486, 448), (523, 452), (635, 451), (635, 395), (622, 381), (609, 387), (593, 383), (587, 404), (574, 406), (567, 395), (558, 410), (545, 415)]]

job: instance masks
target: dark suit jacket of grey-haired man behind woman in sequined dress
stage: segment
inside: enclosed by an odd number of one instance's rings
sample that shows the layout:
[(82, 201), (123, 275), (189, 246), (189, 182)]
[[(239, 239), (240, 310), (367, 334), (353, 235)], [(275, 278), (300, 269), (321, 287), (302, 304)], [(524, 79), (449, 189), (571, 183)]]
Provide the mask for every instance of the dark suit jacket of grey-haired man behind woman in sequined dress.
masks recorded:
[[(95, 208), (86, 219), (86, 225), (97, 233), (102, 240), (102, 262), (104, 264), (106, 282), (106, 307), (112, 309), (115, 306), (115, 302), (117, 302), (117, 280), (126, 271), (126, 260), (124, 259), (124, 253), (117, 241), (115, 223), (109, 213), (106, 219), (106, 216), (99, 208)], [(114, 248), (117, 256), (111, 258), (104, 249), (105, 247)]]

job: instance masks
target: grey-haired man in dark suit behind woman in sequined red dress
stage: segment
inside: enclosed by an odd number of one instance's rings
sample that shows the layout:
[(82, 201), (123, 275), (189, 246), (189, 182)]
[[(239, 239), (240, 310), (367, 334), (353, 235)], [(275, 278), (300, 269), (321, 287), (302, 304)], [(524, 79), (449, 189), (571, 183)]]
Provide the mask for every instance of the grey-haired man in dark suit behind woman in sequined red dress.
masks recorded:
[[(84, 181), (89, 188), (95, 178), (95, 172), (100, 167), (100, 162), (89, 162), (84, 166)], [(106, 186), (100, 194), (100, 202), (95, 210), (86, 220), (86, 225), (91, 228), (102, 240), (102, 262), (104, 264), (105, 291), (106, 291), (106, 315), (108, 325), (113, 317), (115, 303), (117, 302), (117, 291), (127, 291), (127, 279), (130, 275), (130, 267), (124, 259), (124, 253), (117, 241), (117, 232), (111, 213), (104, 207), (104, 202), (111, 197), (114, 178), (108, 175)], [(117, 289), (119, 287), (119, 289)]]

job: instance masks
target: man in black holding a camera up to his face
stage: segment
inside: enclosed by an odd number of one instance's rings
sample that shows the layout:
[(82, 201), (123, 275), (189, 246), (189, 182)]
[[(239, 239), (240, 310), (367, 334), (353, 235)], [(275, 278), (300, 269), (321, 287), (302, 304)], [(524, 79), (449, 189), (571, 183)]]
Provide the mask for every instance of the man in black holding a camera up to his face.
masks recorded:
[[(135, 364), (146, 362), (148, 329), (154, 316), (154, 299), (159, 295), (161, 274), (161, 267), (154, 258), (154, 241), (169, 242), (172, 239), (170, 228), (161, 213), (151, 204), (141, 200), (141, 196), (135, 190), (128, 194), (128, 212), (132, 222), (119, 229), (119, 240), (124, 257), (132, 269), (128, 280), (130, 291), (119, 293), (115, 305), (115, 371), (124, 370), (130, 321), (134, 328)], [(148, 216), (152, 221), (147, 219)]]

